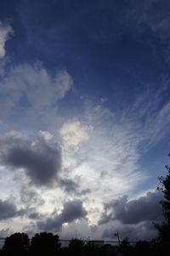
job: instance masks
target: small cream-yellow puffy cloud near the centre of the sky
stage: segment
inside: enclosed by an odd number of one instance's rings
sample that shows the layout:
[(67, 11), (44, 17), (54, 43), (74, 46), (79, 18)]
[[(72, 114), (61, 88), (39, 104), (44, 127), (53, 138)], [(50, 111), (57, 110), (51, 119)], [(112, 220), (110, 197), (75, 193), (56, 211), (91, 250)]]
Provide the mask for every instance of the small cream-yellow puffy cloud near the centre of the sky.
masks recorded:
[(83, 125), (79, 120), (73, 119), (63, 124), (62, 128), (60, 128), (60, 135), (66, 148), (77, 148), (82, 141), (89, 139), (88, 133), (92, 129), (91, 126)]

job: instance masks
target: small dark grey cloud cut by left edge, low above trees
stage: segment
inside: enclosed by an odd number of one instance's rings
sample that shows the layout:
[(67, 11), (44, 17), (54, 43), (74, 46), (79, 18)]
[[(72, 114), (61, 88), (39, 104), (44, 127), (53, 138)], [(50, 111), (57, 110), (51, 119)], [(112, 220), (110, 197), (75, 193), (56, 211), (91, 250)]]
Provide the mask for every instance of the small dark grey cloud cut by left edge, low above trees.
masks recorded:
[(20, 216), (24, 213), (25, 211), (22, 209), (17, 210), (13, 202), (9, 202), (8, 200), (3, 201), (0, 199), (0, 220)]

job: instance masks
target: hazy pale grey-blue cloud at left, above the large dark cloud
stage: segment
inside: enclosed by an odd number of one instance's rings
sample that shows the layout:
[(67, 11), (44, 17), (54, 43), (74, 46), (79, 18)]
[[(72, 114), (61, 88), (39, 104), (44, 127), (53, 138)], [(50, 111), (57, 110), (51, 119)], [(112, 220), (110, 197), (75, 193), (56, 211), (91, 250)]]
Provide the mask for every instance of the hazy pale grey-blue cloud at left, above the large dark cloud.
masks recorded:
[(71, 86), (72, 78), (67, 71), (57, 71), (52, 76), (40, 63), (15, 65), (0, 82), (0, 106), (3, 112), (26, 109), (33, 115), (54, 108)]

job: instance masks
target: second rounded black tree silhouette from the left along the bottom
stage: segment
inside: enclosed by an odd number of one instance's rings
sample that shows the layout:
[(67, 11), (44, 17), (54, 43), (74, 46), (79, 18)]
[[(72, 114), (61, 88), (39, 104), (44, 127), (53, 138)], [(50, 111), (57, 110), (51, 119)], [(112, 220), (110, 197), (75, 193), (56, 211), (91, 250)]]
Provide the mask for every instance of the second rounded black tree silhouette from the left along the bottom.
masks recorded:
[(59, 236), (53, 233), (37, 233), (31, 239), (31, 255), (55, 255), (60, 248)]

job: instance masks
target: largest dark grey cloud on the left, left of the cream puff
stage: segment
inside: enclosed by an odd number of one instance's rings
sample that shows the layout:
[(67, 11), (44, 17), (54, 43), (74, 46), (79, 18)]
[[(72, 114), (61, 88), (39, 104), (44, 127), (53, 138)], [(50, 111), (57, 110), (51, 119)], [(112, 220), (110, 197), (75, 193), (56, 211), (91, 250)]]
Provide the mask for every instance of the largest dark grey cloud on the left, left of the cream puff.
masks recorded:
[(52, 185), (61, 169), (61, 151), (58, 145), (49, 145), (43, 139), (16, 138), (7, 134), (0, 139), (0, 161), (11, 170), (22, 168), (34, 185)]

